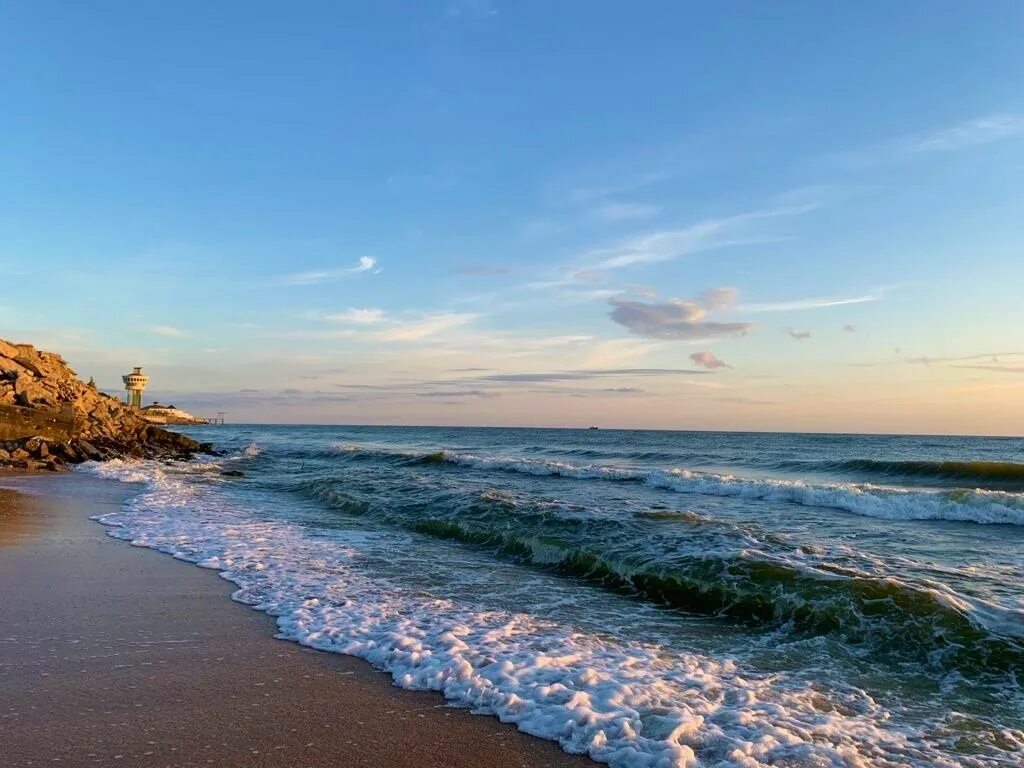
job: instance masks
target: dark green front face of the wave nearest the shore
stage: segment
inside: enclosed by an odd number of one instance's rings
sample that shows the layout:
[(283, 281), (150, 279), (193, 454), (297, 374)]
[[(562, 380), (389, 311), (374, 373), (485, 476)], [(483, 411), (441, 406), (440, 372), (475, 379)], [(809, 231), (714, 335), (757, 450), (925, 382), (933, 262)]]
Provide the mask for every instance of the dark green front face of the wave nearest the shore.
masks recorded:
[(639, 557), (609, 558), (551, 537), (520, 537), (449, 519), (420, 520), (409, 527), (687, 612), (867, 642), (880, 651), (946, 669), (1024, 669), (1020, 643), (993, 635), (966, 612), (902, 582), (808, 571), (738, 555), (693, 556), (663, 568)]

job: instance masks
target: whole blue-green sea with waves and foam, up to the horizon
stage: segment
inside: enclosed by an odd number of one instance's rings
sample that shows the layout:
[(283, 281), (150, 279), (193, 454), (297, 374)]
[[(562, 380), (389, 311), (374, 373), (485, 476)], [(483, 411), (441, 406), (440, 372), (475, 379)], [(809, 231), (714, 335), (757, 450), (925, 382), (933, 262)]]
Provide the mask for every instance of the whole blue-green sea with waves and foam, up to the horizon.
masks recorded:
[(1024, 765), (1024, 439), (209, 426), (111, 536), (624, 768)]

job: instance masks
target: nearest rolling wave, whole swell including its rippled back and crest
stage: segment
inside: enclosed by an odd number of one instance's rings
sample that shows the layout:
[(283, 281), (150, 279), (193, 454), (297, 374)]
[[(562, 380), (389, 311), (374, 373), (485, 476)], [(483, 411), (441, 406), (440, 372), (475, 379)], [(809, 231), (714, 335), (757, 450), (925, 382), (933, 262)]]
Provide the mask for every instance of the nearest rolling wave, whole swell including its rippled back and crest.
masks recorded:
[(520, 506), (495, 492), (431, 514), (398, 503), (374, 509), (330, 479), (306, 489), (346, 514), (371, 515), (690, 613), (784, 628), (795, 636), (830, 635), (941, 669), (1024, 668), (1024, 607), (994, 605), (938, 583), (863, 572), (828, 553), (807, 556), (804, 547), (784, 548), (764, 531), (693, 512), (639, 513), (687, 526), (681, 537), (649, 532), (641, 542), (628, 519)]

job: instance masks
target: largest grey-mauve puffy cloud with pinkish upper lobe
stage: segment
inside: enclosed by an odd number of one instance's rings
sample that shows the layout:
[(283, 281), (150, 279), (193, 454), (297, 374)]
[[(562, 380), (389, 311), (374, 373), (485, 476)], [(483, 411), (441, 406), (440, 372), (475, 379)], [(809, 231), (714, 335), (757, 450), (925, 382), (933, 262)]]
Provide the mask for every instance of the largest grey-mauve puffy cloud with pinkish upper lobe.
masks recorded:
[(698, 341), (743, 336), (754, 328), (753, 323), (707, 319), (709, 310), (728, 308), (737, 297), (735, 289), (729, 288), (705, 291), (693, 301), (672, 299), (655, 303), (613, 297), (609, 299), (612, 308), (608, 316), (634, 334), (651, 339)]

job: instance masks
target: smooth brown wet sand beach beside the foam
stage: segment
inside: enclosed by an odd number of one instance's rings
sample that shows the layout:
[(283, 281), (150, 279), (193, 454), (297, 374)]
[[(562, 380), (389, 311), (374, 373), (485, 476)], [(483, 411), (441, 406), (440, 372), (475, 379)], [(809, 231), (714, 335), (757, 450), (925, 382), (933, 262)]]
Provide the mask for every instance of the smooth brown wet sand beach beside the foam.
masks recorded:
[(125, 486), (0, 476), (0, 764), (595, 765), (367, 663), (273, 639), (215, 572), (88, 517)]

